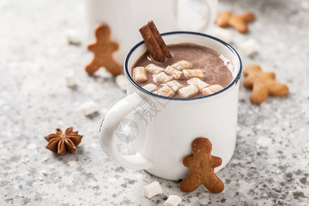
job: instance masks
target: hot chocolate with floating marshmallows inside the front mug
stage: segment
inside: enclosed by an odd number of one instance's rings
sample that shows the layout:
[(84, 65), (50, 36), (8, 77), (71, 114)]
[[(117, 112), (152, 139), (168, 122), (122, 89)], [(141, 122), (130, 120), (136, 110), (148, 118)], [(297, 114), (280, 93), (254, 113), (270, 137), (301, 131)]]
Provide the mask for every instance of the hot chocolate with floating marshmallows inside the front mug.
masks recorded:
[(233, 80), (231, 61), (192, 43), (168, 45), (172, 58), (155, 62), (147, 51), (133, 65), (133, 78), (144, 89), (173, 98), (216, 93)]

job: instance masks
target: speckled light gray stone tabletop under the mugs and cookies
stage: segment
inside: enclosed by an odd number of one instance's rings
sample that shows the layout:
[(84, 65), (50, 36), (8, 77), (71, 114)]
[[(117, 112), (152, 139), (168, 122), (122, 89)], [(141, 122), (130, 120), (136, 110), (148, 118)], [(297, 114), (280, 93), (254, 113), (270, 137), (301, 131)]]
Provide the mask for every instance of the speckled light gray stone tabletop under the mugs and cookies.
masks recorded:
[[(242, 56), (244, 65), (275, 71), (290, 93), (254, 105), (241, 87), (236, 150), (218, 172), (224, 192), (186, 194), (178, 182), (126, 170), (102, 152), (100, 123), (126, 94), (104, 70), (84, 72), (92, 57), (87, 43), (67, 44), (67, 28), (84, 29), (83, 2), (1, 0), (0, 205), (163, 205), (170, 194), (181, 196), (181, 205), (309, 205), (309, 2), (220, 1), (226, 9), (255, 12), (249, 34), (232, 31), (232, 45), (255, 38), (260, 51)], [(76, 89), (65, 86), (68, 68)], [(98, 115), (82, 115), (88, 100), (97, 102)], [(73, 155), (45, 149), (45, 135), (69, 126), (84, 135)], [(141, 188), (152, 181), (163, 194), (148, 199)]]

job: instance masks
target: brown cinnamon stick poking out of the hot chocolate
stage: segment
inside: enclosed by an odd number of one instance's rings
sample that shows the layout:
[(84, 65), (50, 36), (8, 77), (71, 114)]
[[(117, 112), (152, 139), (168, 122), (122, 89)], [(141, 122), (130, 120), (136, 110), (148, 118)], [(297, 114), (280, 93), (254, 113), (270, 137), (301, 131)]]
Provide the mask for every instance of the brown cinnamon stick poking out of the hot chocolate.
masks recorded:
[(155, 23), (149, 21), (148, 24), (144, 25), (139, 29), (141, 36), (143, 37), (145, 44), (152, 56), (157, 62), (165, 62), (165, 56), (172, 58), (172, 54), (165, 45)]

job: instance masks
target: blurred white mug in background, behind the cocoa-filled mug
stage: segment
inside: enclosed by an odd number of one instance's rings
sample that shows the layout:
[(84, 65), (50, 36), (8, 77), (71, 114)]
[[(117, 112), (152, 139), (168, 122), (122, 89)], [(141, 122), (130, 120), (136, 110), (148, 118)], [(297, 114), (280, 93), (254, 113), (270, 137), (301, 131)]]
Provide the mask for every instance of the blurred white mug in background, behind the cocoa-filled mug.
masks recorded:
[[(111, 38), (119, 44), (114, 58), (122, 65), (130, 48), (142, 40), (141, 36), (137, 35), (137, 31), (148, 21), (154, 21), (161, 33), (186, 28), (184, 23), (177, 26), (179, 24), (178, 16), (180, 16), (177, 14), (178, 11), (185, 12), (185, 10), (179, 9), (179, 5), (184, 4), (185, 1), (188, 0), (85, 0), (87, 41), (93, 40), (95, 25), (106, 23), (111, 29)], [(194, 1), (201, 1), (199, 4), (202, 5), (201, 8), (205, 8), (208, 16), (207, 19), (203, 19), (203, 14), (200, 15), (205, 23), (195, 31), (206, 32), (211, 28), (216, 18), (218, 0)], [(192, 21), (188, 23), (194, 25)], [(188, 29), (194, 30), (192, 27), (188, 27)]]

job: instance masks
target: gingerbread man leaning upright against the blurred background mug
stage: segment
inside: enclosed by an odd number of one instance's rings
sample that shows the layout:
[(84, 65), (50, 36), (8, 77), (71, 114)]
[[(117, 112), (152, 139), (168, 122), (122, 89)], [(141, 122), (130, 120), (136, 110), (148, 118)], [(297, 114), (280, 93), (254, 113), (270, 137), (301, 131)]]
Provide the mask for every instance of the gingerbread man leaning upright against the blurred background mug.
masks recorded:
[(86, 66), (89, 74), (94, 73), (100, 67), (105, 67), (113, 75), (122, 73), (122, 67), (113, 59), (113, 52), (117, 51), (119, 45), (111, 41), (111, 30), (107, 25), (100, 24), (95, 29), (95, 43), (88, 45), (88, 49), (93, 52), (93, 60)]

